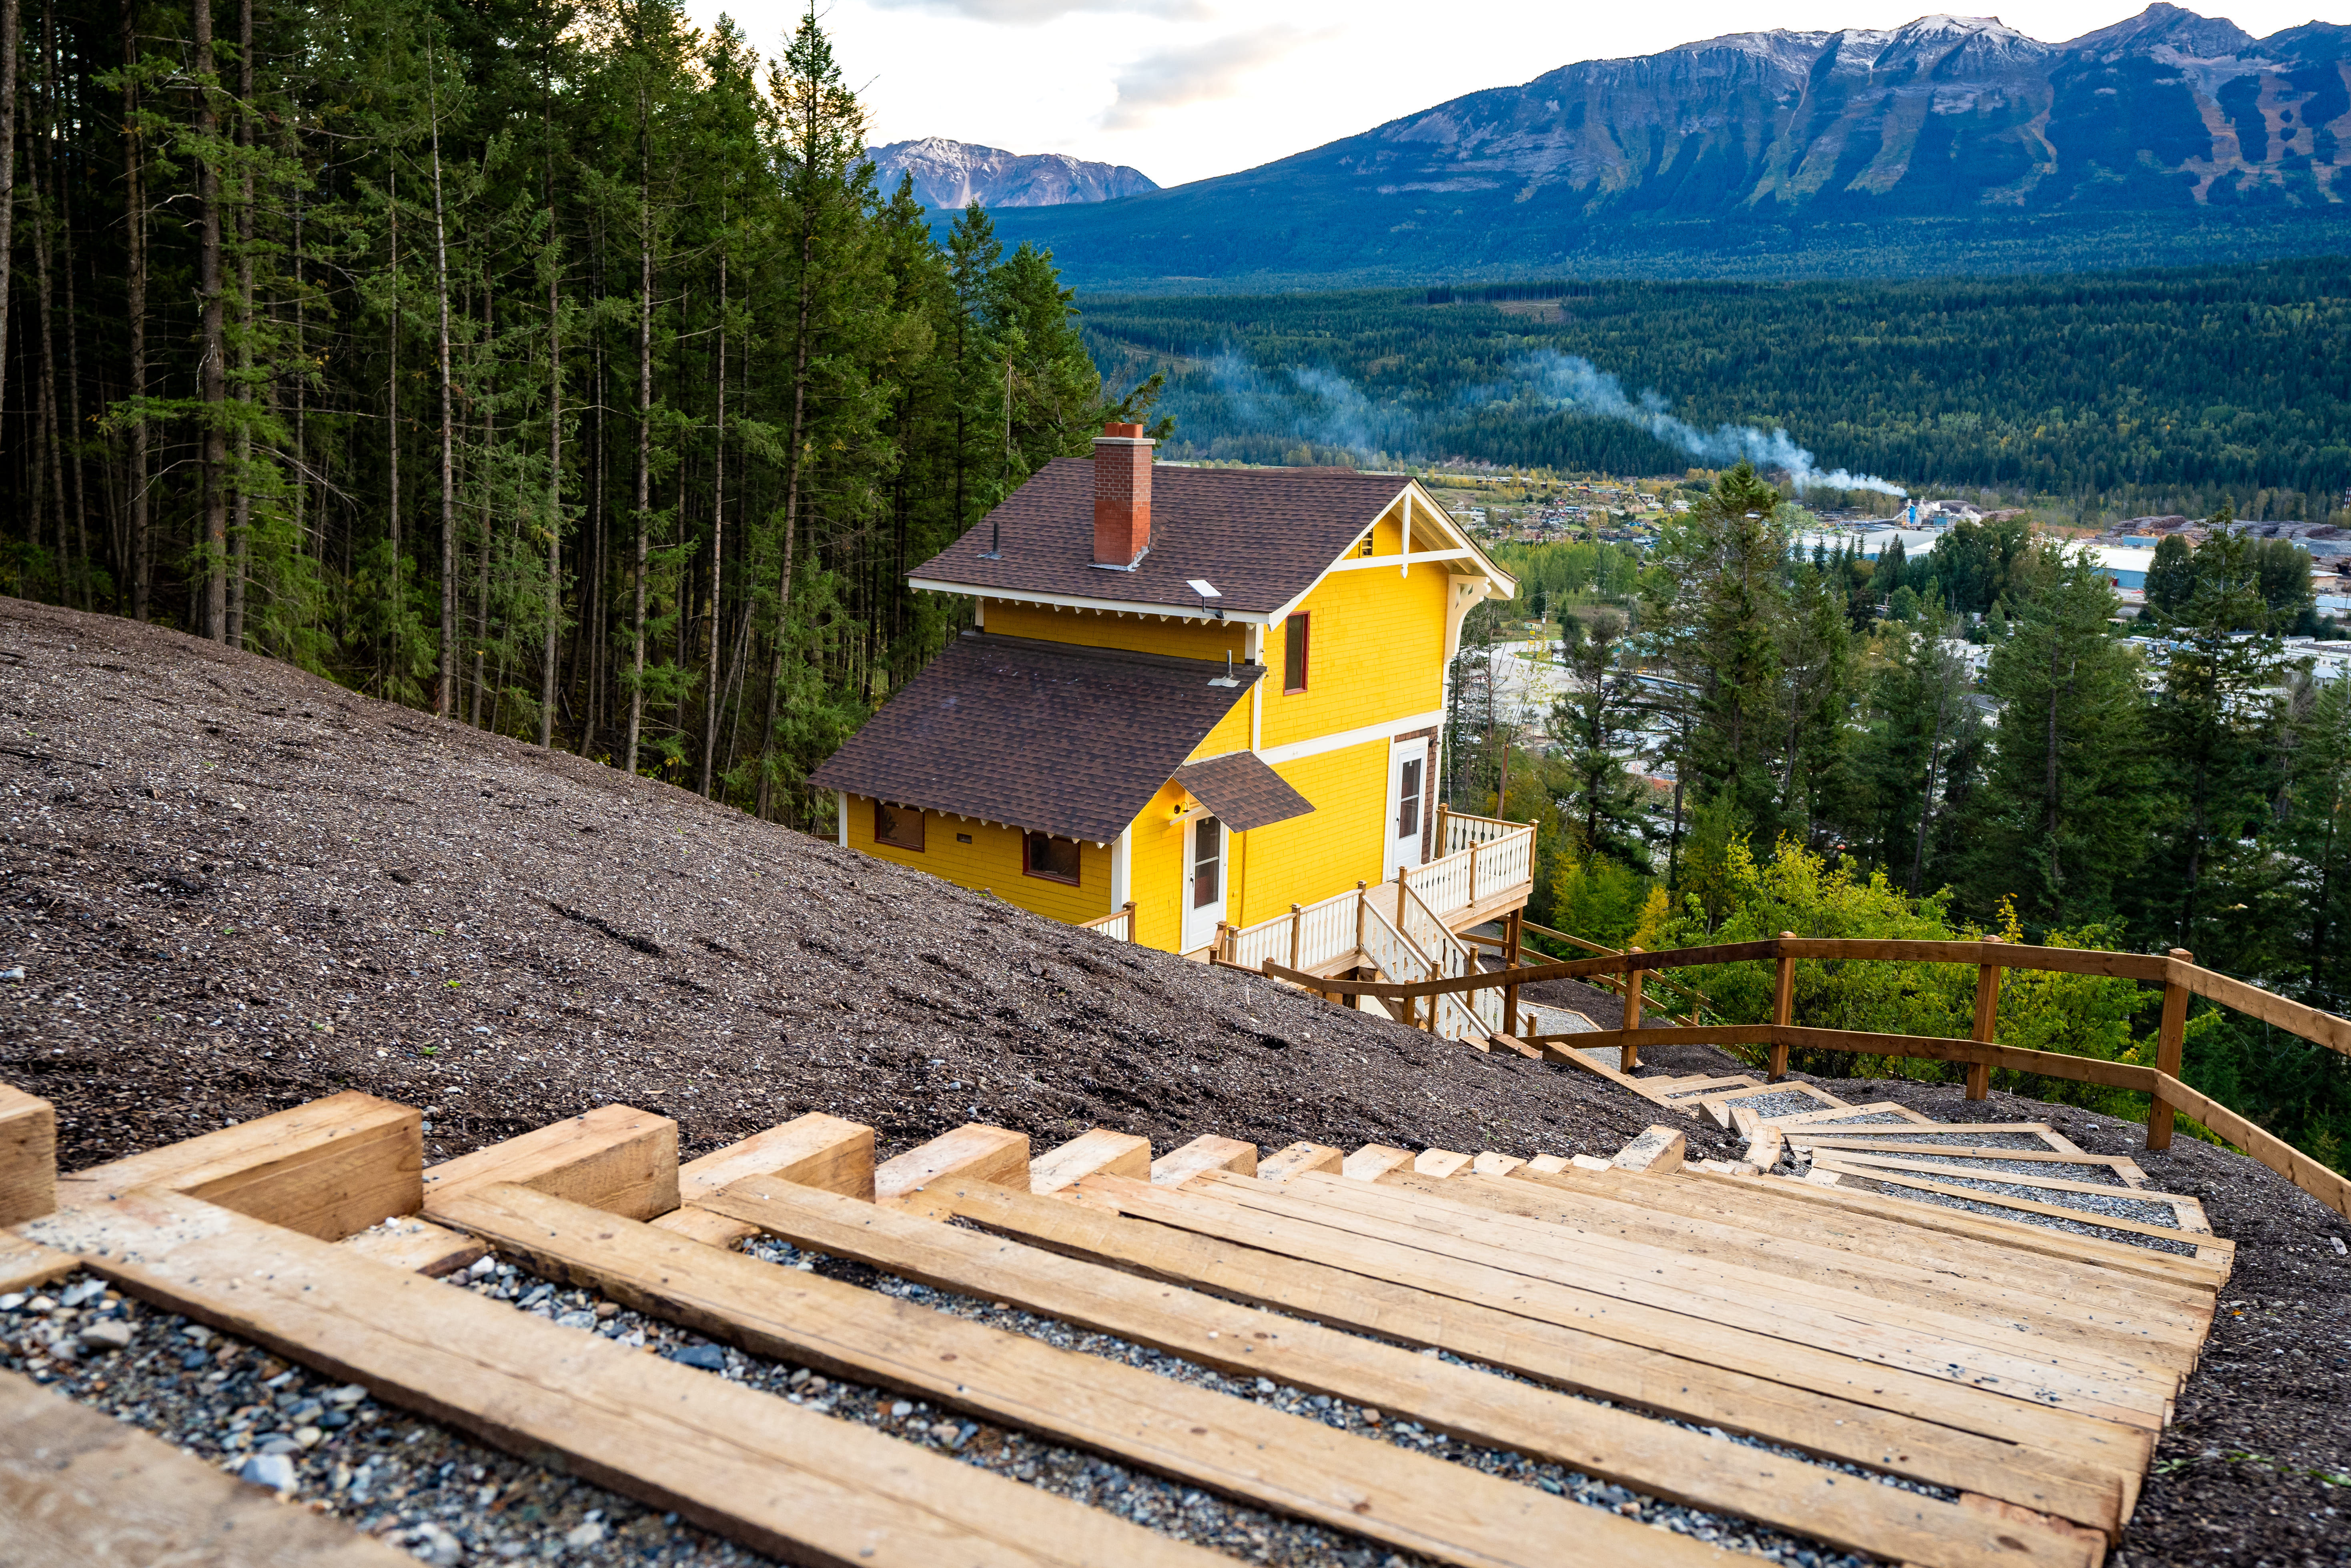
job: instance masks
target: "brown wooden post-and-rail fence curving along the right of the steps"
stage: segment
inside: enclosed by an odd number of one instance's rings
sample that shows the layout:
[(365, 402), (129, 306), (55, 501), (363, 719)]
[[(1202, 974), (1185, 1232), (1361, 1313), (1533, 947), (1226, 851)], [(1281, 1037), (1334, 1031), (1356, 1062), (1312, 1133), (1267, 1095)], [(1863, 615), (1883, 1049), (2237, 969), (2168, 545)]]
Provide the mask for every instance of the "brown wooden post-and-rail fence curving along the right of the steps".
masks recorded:
[[(1775, 966), (1773, 1020), (1761, 1025), (1712, 1025), (1712, 1027), (1641, 1027), (1641, 978), (1667, 969), (1700, 969), (1709, 964), (1768, 961)], [(1794, 1018), (1794, 978), (1801, 961), (1876, 961), (1876, 964), (1972, 964), (1975, 966), (1975, 1030), (1972, 1039), (1940, 1039), (1923, 1034), (1874, 1034), (1867, 1030), (1813, 1030), (1799, 1027)], [(1998, 1020), (2001, 973), (2008, 969), (2034, 969), (2074, 976), (2111, 976), (2118, 980), (2142, 980), (2163, 987), (2163, 1023), (2156, 1034), (2156, 1065), (2109, 1063), (2062, 1051), (2024, 1051), (2003, 1046), (1994, 1037)], [(1573, 1058), (1575, 1048), (1622, 1048), (1622, 1065), (1632, 1072), (1646, 1046), (1681, 1044), (1740, 1044), (1770, 1048), (1770, 1077), (1787, 1074), (1789, 1048), (1855, 1051), (1867, 1056), (1902, 1056), (1968, 1065), (1968, 1098), (1982, 1100), (1991, 1091), (1991, 1070), (2010, 1067), (2038, 1072), (2076, 1084), (2102, 1084), (2106, 1088), (2130, 1088), (2149, 1095), (2146, 1147), (2168, 1150), (2172, 1143), (2172, 1117), (2186, 1112), (2212, 1128), (2219, 1138), (2245, 1150), (2278, 1175), (2316, 1197), (2335, 1213), (2351, 1218), (2351, 1180), (2318, 1164), (2290, 1143), (2262, 1131), (2226, 1105), (2210, 1100), (2179, 1081), (2179, 1046), (2186, 1030), (2189, 997), (2203, 997), (2219, 1006), (2259, 1018), (2299, 1039), (2351, 1056), (2351, 1020), (2323, 1013), (2299, 1001), (2288, 1001), (2259, 985), (2233, 980), (2224, 973), (2201, 969), (2182, 947), (2168, 954), (2149, 952), (2095, 952), (2085, 947), (2027, 947), (1984, 938), (1977, 943), (1886, 943), (1855, 938), (1803, 938), (1780, 933), (1768, 943), (1723, 943), (1716, 947), (1672, 947), (1667, 952), (1615, 952), (1592, 959), (1568, 959), (1563, 964), (1538, 964), (1533, 969), (1498, 969), (1444, 980), (1420, 980), (1415, 985), (1389, 985), (1380, 980), (1324, 980), (1286, 971), (1281, 964), (1265, 964), (1265, 973), (1277, 980), (1295, 980), (1328, 994), (1361, 994), (1382, 999), (1418, 1001), (1420, 997), (1467, 992), (1500, 985), (1540, 985), (1545, 980), (1585, 980), (1592, 976), (1620, 976), (1625, 994), (1625, 1027), (1596, 1030), (1589, 1034), (1538, 1037), (1526, 1044), (1545, 1056)]]

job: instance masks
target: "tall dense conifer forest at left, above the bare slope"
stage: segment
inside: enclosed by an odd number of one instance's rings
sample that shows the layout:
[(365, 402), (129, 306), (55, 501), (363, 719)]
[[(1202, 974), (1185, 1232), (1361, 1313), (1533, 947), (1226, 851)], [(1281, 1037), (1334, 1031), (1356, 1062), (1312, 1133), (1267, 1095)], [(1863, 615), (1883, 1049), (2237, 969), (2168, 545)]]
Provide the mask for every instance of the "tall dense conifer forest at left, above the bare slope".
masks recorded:
[(804, 820), (905, 569), (1154, 393), (865, 143), (813, 9), (0, 0), (0, 592)]

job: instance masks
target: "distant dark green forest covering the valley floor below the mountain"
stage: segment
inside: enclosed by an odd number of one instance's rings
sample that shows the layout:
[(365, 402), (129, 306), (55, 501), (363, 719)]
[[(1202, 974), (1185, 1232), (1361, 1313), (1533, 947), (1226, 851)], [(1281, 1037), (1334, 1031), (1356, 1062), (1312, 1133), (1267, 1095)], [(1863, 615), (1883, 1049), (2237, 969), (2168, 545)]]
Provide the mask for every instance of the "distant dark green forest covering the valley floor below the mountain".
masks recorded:
[(1679, 475), (1707, 461), (1561, 407), (1578, 355), (1693, 425), (1787, 428), (1824, 468), (2076, 515), (2351, 517), (2351, 261), (2027, 277), (1552, 282), (1086, 301), (1096, 362), (1166, 371), (1201, 456)]

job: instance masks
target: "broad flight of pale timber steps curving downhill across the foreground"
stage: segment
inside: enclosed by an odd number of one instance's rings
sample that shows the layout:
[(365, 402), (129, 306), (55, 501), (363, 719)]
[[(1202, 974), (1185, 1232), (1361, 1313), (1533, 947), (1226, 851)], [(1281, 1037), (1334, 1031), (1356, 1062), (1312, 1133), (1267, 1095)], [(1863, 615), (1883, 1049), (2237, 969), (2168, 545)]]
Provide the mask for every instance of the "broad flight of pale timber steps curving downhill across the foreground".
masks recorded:
[[(1613, 1164), (1218, 1135), (1152, 1159), (1103, 1128), (1032, 1157), (1020, 1133), (966, 1126), (877, 1166), (872, 1131), (825, 1114), (679, 1166), (675, 1126), (618, 1105), (421, 1168), (416, 1112), (353, 1093), (71, 1175), (7, 1246), (790, 1561), (936, 1568), (947, 1542), (973, 1563), (1215, 1559), (433, 1284), (369, 1237), (404, 1237), (423, 1269), (447, 1258), (435, 1237), (487, 1246), (757, 1356), (1444, 1563), (1719, 1554), (1434, 1458), (1434, 1436), (1921, 1568), (2097, 1563), (2196, 1363), (2229, 1246), (2177, 1206), (2168, 1237), (2031, 1222), (2062, 1206), (2057, 1182), (2121, 1175), (2114, 1161), (2050, 1161), (2057, 1201), (2001, 1211), (2015, 1218), (1886, 1185), (2008, 1185), (1987, 1161), (2015, 1152), (2015, 1126), (1984, 1147), (1987, 1128), (1799, 1107), (1770, 1098), (1780, 1086), (1639, 1086), (1669, 1119), (1744, 1114), (1759, 1140), (1806, 1145), (1815, 1175), (1681, 1171), (1672, 1126)], [(1921, 1138), (1935, 1143), (1911, 1175), (1902, 1145)], [(0, 1157), (19, 1166), (0, 1187), (47, 1187), (38, 1140)], [(752, 1234), (1248, 1382), (1215, 1392), (731, 1251)], [(1251, 1387), (1357, 1418), (1286, 1413)], [(141, 1481), (103, 1486), (132, 1502)], [(106, 1528), (103, 1509), (59, 1519)]]

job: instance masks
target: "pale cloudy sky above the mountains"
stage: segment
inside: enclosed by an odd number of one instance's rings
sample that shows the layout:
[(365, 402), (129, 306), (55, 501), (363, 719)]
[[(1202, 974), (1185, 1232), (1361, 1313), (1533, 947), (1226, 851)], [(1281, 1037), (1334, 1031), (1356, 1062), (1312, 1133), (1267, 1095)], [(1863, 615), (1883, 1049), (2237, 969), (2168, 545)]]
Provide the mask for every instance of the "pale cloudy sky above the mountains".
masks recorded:
[[(823, 0), (818, 0), (823, 5)], [(2323, 0), (2323, 21), (2351, 16)], [(729, 12), (766, 52), (792, 0), (686, 0)], [(1871, 9), (1876, 7), (1876, 9)], [(2031, 0), (2001, 19), (2062, 42), (2132, 14), (2132, 0)], [(2226, 14), (2262, 38), (2311, 21), (2311, 0)], [(825, 14), (875, 141), (950, 136), (1072, 153), (1161, 186), (1230, 174), (1335, 141), (1479, 87), (1580, 59), (1653, 54), (1747, 28), (1890, 28), (1888, 0), (1561, 5), (1559, 0), (837, 0)]]

